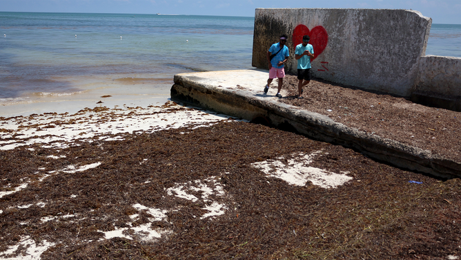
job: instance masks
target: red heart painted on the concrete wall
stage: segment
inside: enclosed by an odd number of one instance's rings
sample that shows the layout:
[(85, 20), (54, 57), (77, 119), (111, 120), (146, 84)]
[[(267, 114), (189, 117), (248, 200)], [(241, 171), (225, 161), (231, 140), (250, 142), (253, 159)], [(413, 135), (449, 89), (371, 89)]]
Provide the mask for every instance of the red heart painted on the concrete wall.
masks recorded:
[(314, 47), (314, 57), (311, 59), (312, 61), (317, 58), (318, 55), (323, 53), (326, 48), (326, 44), (328, 44), (328, 34), (323, 26), (315, 26), (311, 31), (309, 31), (307, 26), (300, 24), (296, 26), (295, 30), (293, 30), (293, 50), (296, 49), (298, 44), (302, 44), (302, 37), (304, 35), (309, 35), (309, 37), (311, 37), (309, 44), (312, 44)]

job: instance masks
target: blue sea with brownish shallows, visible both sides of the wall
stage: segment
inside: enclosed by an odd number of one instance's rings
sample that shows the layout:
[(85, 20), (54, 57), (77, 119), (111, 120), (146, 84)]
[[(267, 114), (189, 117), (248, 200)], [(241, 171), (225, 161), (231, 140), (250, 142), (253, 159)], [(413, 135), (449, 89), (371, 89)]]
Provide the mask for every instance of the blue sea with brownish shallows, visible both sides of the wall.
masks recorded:
[[(254, 17), (0, 12), (0, 116), (104, 95), (167, 100), (177, 73), (251, 68), (253, 27)], [(461, 25), (433, 24), (426, 55), (461, 57)]]

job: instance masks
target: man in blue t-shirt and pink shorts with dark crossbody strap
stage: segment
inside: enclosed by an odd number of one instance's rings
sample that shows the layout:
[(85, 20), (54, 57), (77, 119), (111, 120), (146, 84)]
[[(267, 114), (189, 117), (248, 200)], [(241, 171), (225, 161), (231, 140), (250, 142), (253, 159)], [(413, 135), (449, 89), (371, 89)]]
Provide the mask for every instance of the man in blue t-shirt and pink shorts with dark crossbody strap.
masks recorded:
[(269, 79), (267, 80), (267, 85), (264, 87), (264, 93), (267, 94), (272, 80), (277, 77), (279, 79), (279, 86), (277, 95), (275, 95), (276, 97), (282, 97), (282, 95), (280, 95), (280, 90), (282, 89), (285, 77), (284, 64), (289, 56), (288, 47), (285, 46), (287, 38), (286, 35), (280, 36), (280, 41), (277, 44), (272, 44), (271, 48), (269, 48), (266, 53), (267, 62), (269, 64)]

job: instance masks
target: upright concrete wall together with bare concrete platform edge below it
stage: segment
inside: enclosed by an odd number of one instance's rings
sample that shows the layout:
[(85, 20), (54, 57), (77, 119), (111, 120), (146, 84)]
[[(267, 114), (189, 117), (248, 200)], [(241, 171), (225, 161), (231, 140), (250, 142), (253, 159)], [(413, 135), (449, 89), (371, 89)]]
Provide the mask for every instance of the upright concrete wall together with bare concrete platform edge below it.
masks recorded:
[(461, 177), (458, 160), (346, 127), (326, 115), (277, 102), (277, 98), (262, 92), (262, 82), (268, 76), (269, 46), (279, 40), (279, 35), (288, 35), (286, 45), (291, 59), (286, 72), (295, 73), (295, 46), (303, 35), (310, 35), (315, 54), (311, 71), (315, 77), (411, 97), (417, 102), (438, 102), (442, 107), (450, 104), (450, 109), (456, 111), (460, 104), (461, 59), (424, 56), (430, 28), (431, 19), (413, 10), (257, 9), (253, 66), (263, 70), (175, 75), (171, 97), (351, 147), (405, 169)]

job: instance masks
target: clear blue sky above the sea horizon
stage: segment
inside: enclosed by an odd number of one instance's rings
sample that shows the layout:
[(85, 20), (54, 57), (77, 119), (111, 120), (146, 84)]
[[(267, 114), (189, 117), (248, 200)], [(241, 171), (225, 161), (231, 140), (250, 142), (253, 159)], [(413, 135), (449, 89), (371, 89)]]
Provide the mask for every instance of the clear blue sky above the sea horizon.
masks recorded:
[(412, 9), (461, 24), (461, 0), (0, 0), (0, 12), (97, 12), (254, 17), (256, 8)]

